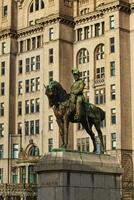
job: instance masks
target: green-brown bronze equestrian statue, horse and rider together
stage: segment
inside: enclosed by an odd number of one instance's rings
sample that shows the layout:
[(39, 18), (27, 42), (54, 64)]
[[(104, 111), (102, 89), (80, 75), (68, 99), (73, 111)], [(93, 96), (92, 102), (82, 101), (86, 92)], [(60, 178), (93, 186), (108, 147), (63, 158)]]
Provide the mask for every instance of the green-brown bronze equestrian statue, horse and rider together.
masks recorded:
[(53, 108), (59, 126), (62, 139), (61, 147), (67, 148), (69, 123), (81, 123), (82, 127), (91, 137), (94, 153), (97, 151), (97, 144), (92, 127), (93, 125), (95, 126), (100, 139), (101, 153), (104, 153), (100, 122), (105, 119), (105, 112), (101, 108), (86, 101), (83, 95), (85, 84), (80, 78), (79, 70), (73, 69), (72, 74), (74, 82), (69, 94), (57, 81), (51, 81), (49, 85), (45, 87), (45, 94), (48, 97), (49, 106)]

